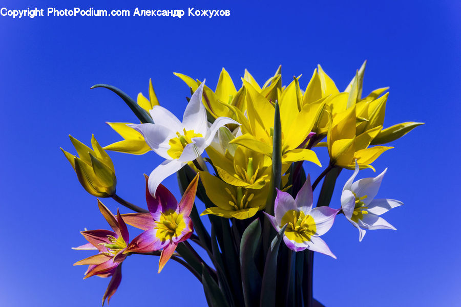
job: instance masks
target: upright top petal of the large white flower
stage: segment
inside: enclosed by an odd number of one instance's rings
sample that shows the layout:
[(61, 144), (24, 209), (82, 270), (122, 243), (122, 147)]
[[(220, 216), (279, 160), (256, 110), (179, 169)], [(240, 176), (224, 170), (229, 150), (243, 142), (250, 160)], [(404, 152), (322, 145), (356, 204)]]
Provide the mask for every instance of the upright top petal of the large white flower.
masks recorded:
[(199, 133), (203, 137), (205, 137), (208, 128), (206, 109), (202, 104), (204, 85), (205, 82), (203, 81), (194, 94), (192, 94), (191, 100), (187, 103), (184, 116), (182, 117), (182, 125), (186, 130), (194, 130), (195, 133)]

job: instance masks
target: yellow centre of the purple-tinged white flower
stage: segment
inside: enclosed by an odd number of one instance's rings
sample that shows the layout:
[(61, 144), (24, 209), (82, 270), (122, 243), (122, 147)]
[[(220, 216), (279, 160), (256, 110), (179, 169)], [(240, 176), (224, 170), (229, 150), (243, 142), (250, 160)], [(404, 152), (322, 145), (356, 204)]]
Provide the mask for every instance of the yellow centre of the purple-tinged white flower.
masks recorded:
[(317, 231), (316, 221), (302, 211), (288, 210), (282, 217), (282, 225), (288, 224), (285, 235), (297, 243), (310, 241), (311, 235)]

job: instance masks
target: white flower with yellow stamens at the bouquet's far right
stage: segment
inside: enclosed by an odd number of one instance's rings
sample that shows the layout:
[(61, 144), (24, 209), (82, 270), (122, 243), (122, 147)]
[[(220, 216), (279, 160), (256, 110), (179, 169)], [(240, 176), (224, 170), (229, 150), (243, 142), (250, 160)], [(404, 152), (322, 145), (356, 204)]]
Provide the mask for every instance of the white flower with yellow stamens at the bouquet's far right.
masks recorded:
[(355, 171), (344, 185), (341, 194), (341, 207), (347, 220), (359, 229), (360, 241), (365, 235), (365, 229), (395, 230), (394, 226), (379, 215), (401, 206), (403, 203), (389, 199), (374, 199), (386, 171), (387, 168), (374, 178), (364, 178), (353, 182), (359, 172), (359, 165), (355, 162)]

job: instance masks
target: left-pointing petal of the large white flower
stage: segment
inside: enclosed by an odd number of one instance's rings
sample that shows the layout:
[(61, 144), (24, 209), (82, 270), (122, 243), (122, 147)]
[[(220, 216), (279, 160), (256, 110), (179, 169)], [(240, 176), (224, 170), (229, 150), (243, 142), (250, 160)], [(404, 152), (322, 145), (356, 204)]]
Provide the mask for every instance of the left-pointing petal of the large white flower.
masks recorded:
[(145, 142), (157, 153), (157, 155), (165, 159), (172, 159), (166, 151), (171, 148), (168, 144), (170, 140), (176, 137), (174, 131), (158, 124), (129, 124), (127, 126), (138, 131), (144, 137)]

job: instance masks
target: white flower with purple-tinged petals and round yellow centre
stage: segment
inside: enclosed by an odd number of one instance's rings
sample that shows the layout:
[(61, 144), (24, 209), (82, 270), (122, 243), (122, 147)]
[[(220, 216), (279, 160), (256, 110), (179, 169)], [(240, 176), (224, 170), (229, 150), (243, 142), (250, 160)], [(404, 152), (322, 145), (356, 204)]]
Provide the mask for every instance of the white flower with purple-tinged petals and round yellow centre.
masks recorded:
[(283, 240), (289, 249), (299, 252), (307, 248), (336, 259), (320, 236), (331, 228), (339, 210), (330, 207), (312, 209), (312, 187), (310, 176), (307, 176), (296, 199), (286, 192), (277, 190), (274, 204), (275, 216), (266, 212), (264, 214), (277, 231), (288, 224)]

